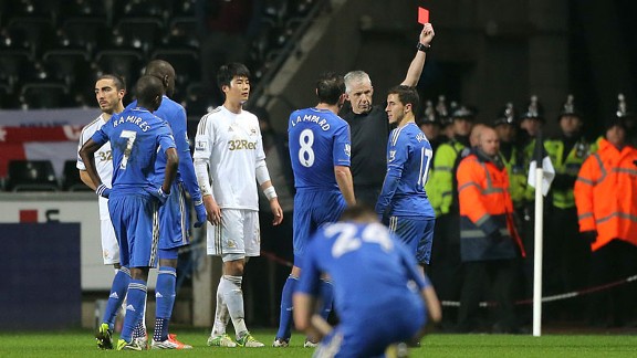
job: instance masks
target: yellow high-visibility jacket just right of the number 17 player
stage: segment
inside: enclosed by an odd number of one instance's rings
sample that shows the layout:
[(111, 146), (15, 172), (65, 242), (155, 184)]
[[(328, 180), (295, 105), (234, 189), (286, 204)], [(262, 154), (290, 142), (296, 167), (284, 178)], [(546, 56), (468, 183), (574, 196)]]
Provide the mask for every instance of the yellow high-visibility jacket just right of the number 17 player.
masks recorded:
[(434, 168), (425, 191), (436, 212), (436, 217), (447, 214), (453, 203), (453, 175), (457, 158), (464, 149), (464, 145), (457, 140), (441, 144), (434, 155)]

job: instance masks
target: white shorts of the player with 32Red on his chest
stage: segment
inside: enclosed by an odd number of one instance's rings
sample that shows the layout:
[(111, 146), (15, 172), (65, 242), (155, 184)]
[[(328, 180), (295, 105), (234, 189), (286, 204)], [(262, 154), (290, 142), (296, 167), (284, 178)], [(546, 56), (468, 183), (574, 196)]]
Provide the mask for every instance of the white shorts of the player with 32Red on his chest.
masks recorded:
[(215, 227), (208, 222), (207, 229), (209, 255), (259, 256), (261, 254), (259, 211), (222, 209), (221, 225)]

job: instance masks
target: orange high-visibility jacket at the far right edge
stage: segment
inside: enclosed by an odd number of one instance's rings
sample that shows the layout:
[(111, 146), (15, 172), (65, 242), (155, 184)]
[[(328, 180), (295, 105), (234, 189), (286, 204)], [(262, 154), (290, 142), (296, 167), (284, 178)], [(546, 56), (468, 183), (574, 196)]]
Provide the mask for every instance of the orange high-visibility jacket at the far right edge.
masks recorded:
[(597, 231), (591, 249), (613, 239), (637, 245), (637, 149), (617, 149), (606, 139), (582, 165), (575, 181), (579, 231)]

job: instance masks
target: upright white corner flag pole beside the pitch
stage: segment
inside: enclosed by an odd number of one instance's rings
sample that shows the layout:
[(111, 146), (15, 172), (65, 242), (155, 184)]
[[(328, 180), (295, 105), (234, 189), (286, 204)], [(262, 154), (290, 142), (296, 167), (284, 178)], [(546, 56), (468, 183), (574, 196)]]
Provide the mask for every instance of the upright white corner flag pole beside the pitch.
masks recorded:
[(542, 227), (544, 200), (542, 198), (542, 178), (544, 177), (544, 169), (542, 161), (544, 159), (544, 146), (542, 143), (542, 130), (537, 131), (535, 136), (535, 148), (533, 158), (536, 164), (535, 168), (535, 223), (534, 223), (534, 250), (533, 250), (533, 336), (540, 337), (542, 335), (542, 248), (543, 236)]

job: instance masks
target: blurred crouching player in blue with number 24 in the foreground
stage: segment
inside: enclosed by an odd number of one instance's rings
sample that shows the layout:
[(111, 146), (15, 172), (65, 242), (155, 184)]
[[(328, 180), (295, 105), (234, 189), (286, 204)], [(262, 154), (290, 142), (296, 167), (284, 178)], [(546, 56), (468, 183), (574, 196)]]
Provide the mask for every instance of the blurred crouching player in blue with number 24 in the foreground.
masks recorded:
[[(334, 280), (340, 324), (315, 314), (321, 276)], [(314, 357), (379, 357), (399, 341), (418, 340), (441, 308), (414, 254), (378, 222), (372, 208), (347, 208), (340, 222), (318, 230), (306, 246), (294, 293), (294, 323), (323, 339)]]

